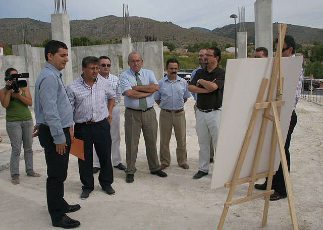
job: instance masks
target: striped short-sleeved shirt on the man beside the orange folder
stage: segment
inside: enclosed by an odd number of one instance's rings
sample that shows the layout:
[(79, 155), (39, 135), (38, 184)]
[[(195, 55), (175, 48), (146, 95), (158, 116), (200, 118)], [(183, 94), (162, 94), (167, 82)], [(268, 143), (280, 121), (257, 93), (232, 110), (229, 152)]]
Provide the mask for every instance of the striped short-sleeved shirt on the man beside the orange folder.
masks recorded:
[(109, 116), (105, 98), (115, 99), (116, 93), (110, 81), (97, 77), (91, 88), (84, 82), (82, 75), (66, 88), (74, 110), (74, 122), (102, 121)]

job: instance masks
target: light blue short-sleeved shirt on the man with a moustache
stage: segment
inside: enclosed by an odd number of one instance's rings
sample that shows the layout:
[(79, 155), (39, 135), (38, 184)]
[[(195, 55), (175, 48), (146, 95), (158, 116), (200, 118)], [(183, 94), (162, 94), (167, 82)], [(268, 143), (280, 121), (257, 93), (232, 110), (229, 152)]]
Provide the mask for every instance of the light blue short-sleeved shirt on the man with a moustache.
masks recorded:
[(174, 82), (168, 76), (158, 81), (159, 90), (154, 92), (153, 99), (160, 100), (159, 108), (180, 110), (184, 107), (184, 99), (191, 97), (187, 81), (176, 75)]

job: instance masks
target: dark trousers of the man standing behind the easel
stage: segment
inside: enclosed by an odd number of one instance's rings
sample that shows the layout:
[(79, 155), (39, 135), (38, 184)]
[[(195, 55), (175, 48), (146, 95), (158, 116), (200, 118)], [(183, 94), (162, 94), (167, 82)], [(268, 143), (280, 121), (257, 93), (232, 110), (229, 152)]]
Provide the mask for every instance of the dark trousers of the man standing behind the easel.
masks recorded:
[[(296, 123), (297, 123), (297, 116), (296, 116), (295, 110), (293, 110), (291, 122), (289, 124), (289, 129), (288, 129), (288, 133), (287, 133), (287, 137), (286, 137), (285, 147), (284, 147), (285, 148), (287, 166), (288, 166), (288, 172), (290, 171), (290, 168), (291, 168), (291, 158), (290, 158), (290, 153), (289, 153), (289, 146), (290, 146), (290, 143), (291, 143), (292, 133), (294, 131)], [(272, 189), (274, 189), (275, 192), (278, 192), (279, 194), (286, 195), (286, 187), (285, 187), (285, 180), (284, 180), (282, 162), (279, 164), (279, 168), (278, 168), (278, 170), (276, 171), (276, 174), (273, 177)]]

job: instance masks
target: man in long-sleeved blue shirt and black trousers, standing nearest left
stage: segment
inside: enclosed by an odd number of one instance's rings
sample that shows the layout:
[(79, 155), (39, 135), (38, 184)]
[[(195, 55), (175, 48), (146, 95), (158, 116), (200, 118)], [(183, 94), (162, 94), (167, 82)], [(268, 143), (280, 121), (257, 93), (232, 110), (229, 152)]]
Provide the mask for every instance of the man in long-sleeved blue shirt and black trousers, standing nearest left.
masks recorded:
[(62, 82), (61, 70), (66, 66), (68, 51), (65, 43), (49, 41), (45, 46), (46, 65), (35, 84), (36, 125), (33, 137), (38, 136), (45, 150), (47, 164), (46, 194), (52, 225), (74, 228), (80, 222), (65, 213), (79, 210), (64, 199), (64, 181), (71, 141), (73, 140), (73, 109)]

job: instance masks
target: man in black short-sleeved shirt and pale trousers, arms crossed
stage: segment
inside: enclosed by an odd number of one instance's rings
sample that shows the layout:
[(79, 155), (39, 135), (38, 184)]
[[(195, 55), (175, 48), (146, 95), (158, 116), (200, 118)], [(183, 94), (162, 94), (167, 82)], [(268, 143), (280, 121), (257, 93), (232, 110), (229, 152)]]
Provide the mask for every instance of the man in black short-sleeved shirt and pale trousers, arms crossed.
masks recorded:
[(221, 51), (217, 47), (209, 48), (204, 54), (204, 69), (198, 70), (188, 90), (197, 93), (196, 133), (198, 138), (199, 168), (193, 179), (208, 174), (210, 138), (217, 146), (225, 71), (220, 69)]

